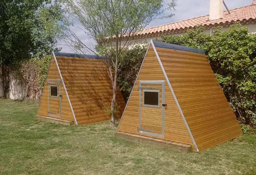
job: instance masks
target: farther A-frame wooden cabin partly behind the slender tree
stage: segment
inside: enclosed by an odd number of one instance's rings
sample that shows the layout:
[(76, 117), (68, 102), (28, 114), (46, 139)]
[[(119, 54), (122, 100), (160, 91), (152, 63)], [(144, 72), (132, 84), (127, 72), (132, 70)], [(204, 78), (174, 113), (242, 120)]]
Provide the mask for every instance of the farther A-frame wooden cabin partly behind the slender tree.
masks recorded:
[[(108, 72), (105, 57), (52, 52), (36, 119), (76, 125), (109, 120), (102, 108), (113, 96)], [(125, 103), (118, 85), (116, 106), (116, 118), (121, 118)]]

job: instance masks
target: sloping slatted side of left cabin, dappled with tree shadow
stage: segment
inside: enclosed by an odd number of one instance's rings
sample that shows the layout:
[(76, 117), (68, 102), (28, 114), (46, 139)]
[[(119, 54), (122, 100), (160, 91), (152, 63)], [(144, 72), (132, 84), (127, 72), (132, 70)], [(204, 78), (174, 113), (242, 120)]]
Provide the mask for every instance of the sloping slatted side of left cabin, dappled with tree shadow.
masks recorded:
[[(109, 108), (113, 96), (105, 60), (89, 58), (56, 57), (78, 125), (110, 119), (100, 101)], [(116, 106), (120, 106), (116, 118), (121, 118), (125, 103), (121, 91), (116, 88)]]

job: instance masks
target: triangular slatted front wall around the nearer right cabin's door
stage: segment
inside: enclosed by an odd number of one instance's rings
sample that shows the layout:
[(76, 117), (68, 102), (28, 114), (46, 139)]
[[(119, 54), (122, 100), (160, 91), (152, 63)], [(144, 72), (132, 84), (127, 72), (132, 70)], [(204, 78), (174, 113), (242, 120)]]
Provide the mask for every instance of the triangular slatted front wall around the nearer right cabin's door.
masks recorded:
[(139, 86), (140, 80), (165, 80), (165, 103), (167, 104), (167, 108), (164, 112), (164, 138), (156, 138), (189, 144), (192, 145), (192, 148), (195, 150), (152, 46), (148, 49), (148, 53), (142, 65), (142, 69), (135, 84), (135, 88), (132, 91), (126, 110), (124, 111), (124, 116), (118, 131), (140, 134), (137, 131), (137, 127), (139, 126), (139, 90), (136, 88)]

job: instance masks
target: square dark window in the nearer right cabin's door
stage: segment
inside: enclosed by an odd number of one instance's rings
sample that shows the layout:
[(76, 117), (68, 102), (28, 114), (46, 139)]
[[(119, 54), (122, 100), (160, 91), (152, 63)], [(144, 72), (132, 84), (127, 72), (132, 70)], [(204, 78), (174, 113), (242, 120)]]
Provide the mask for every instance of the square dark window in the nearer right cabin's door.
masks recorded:
[(144, 90), (143, 106), (159, 107), (159, 91)]

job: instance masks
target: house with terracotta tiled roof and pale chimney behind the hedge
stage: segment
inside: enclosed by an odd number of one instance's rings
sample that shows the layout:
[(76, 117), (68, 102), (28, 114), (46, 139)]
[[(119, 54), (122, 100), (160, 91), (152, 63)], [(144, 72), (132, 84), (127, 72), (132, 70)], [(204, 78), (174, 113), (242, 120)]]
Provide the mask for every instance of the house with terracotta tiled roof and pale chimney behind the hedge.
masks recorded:
[[(162, 34), (181, 35), (188, 29), (195, 29), (196, 25), (203, 25), (206, 34), (212, 33), (213, 27), (222, 26), (222, 31), (239, 21), (249, 28), (249, 32), (255, 32), (256, 28), (256, 2), (251, 5), (223, 11), (223, 0), (210, 0), (210, 14), (182, 21), (172, 22), (161, 26), (150, 27), (136, 33), (137, 42), (149, 42), (151, 39), (160, 39)], [(224, 3), (225, 4), (225, 3)]]

